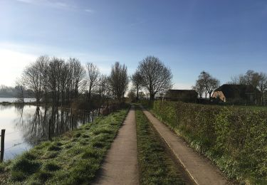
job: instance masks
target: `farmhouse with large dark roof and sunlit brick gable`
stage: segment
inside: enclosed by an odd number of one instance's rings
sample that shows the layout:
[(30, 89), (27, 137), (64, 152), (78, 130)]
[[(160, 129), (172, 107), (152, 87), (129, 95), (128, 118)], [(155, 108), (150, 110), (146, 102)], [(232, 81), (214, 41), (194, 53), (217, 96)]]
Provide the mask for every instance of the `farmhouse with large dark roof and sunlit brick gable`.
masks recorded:
[(261, 94), (257, 88), (252, 85), (231, 85), (224, 84), (214, 90), (213, 98), (222, 102), (256, 104), (260, 102)]

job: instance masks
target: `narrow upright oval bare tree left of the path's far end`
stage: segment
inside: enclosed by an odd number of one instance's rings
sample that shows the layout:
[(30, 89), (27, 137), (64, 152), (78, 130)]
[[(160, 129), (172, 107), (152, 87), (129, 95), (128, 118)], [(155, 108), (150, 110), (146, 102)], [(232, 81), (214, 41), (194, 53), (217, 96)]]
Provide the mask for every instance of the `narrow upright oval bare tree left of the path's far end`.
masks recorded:
[(124, 97), (129, 84), (127, 67), (125, 65), (120, 65), (119, 62), (116, 62), (115, 65), (112, 65), (108, 80), (112, 94), (117, 98), (117, 100), (122, 102), (122, 98)]

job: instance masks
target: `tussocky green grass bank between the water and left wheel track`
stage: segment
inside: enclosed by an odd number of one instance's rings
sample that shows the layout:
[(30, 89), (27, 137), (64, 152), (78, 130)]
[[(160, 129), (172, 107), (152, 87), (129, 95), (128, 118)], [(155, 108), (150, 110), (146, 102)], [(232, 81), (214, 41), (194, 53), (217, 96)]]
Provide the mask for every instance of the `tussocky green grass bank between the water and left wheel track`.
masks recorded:
[(1, 184), (90, 184), (126, 115), (98, 117), (0, 164)]

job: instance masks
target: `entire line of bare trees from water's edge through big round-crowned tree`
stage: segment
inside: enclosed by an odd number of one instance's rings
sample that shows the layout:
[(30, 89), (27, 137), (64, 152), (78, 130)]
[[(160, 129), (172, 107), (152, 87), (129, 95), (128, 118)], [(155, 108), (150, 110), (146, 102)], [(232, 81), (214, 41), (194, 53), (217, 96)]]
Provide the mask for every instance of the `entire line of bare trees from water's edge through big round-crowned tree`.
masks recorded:
[(82, 100), (92, 105), (97, 99), (103, 105), (111, 98), (122, 102), (132, 80), (138, 100), (140, 90), (150, 93), (150, 100), (172, 88), (172, 72), (159, 58), (147, 56), (140, 61), (136, 72), (129, 78), (127, 67), (116, 62), (110, 75), (103, 75), (93, 63), (83, 66), (77, 58), (49, 58), (40, 56), (28, 65), (17, 80), (20, 97), (31, 90), (37, 104), (68, 105)]

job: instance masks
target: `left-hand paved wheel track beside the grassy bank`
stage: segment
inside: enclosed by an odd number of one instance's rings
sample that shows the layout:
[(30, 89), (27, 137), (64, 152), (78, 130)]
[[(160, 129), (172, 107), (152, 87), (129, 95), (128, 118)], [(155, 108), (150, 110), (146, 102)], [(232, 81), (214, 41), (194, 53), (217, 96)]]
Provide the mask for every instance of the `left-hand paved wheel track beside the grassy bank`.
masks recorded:
[(95, 184), (139, 184), (135, 107), (112, 143)]

